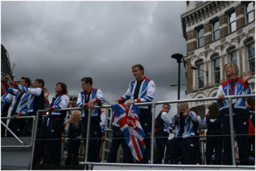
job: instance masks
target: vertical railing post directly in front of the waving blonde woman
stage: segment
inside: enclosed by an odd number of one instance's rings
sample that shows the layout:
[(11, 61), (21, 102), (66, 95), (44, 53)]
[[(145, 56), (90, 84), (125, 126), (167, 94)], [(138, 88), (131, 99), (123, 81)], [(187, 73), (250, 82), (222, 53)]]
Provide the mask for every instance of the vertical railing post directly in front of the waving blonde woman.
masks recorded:
[(230, 123), (230, 134), (231, 134), (232, 163), (235, 166), (236, 165), (236, 162), (235, 162), (235, 135), (234, 135), (232, 97), (228, 97), (228, 106), (229, 106), (229, 123)]

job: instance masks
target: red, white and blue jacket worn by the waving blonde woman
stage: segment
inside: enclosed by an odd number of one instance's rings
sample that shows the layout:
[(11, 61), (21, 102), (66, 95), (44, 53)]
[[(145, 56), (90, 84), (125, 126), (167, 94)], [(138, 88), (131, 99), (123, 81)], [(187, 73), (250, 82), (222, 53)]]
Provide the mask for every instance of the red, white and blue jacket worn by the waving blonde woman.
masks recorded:
[[(217, 92), (217, 96), (220, 94), (223, 94), (225, 96), (229, 95), (229, 81), (235, 81), (235, 80), (227, 80), (225, 82), (222, 82), (219, 90)], [(238, 82), (235, 87), (235, 93), (234, 95), (246, 95), (246, 94), (251, 94), (251, 88), (249, 86), (248, 82), (243, 82), (242, 78), (238, 77)], [(217, 104), (220, 104), (220, 115), (223, 114), (228, 114), (229, 113), (229, 105), (228, 105), (228, 100), (216, 100)], [(233, 113), (236, 114), (247, 114), (246, 111), (246, 103), (245, 103), (245, 98), (235, 98), (235, 103), (234, 103), (234, 108), (233, 108)]]

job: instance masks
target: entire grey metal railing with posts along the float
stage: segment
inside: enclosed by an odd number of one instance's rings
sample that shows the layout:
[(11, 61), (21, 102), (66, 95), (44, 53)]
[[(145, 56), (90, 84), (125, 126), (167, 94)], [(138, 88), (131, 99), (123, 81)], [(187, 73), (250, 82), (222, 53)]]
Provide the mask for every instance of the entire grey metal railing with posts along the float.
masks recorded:
[[(232, 109), (232, 99), (233, 98), (247, 98), (247, 97), (254, 97), (255, 94), (250, 94), (250, 95), (239, 95), (239, 96), (225, 96), (224, 99), (228, 100), (229, 103), (229, 120), (230, 120), (230, 129), (231, 129), (231, 147), (232, 147), (232, 163), (233, 165), (236, 165), (235, 162), (235, 140), (234, 140), (234, 124), (233, 124), (233, 109)], [(220, 100), (218, 97), (208, 97), (208, 98), (196, 98), (196, 99), (186, 99), (186, 100), (174, 100), (174, 101), (160, 101), (160, 102), (147, 102), (147, 103), (135, 103), (137, 106), (145, 106), (145, 105), (151, 105), (152, 106), (152, 130), (155, 130), (155, 109), (156, 106), (159, 104), (167, 104), (167, 103), (184, 103), (184, 102), (197, 102), (197, 101), (215, 101), (215, 100)], [(95, 107), (96, 109), (101, 109), (101, 108), (111, 108), (111, 105), (106, 105), (106, 106), (97, 106)], [(54, 109), (52, 111), (67, 111), (67, 110), (87, 110), (88, 108), (65, 108), (65, 109)], [(80, 165), (85, 165), (91, 168), (93, 166), (92, 162), (87, 162), (88, 161), (88, 144), (89, 144), (89, 131), (90, 131), (90, 126), (91, 126), (91, 109), (88, 109), (88, 126), (87, 126), (87, 136), (86, 136), (86, 148), (85, 148), (85, 162), (80, 162)], [(37, 128), (38, 125), (38, 118), (39, 118), (39, 113), (46, 112), (46, 110), (38, 110), (36, 113), (36, 118), (35, 116), (30, 116), (29, 118), (33, 117), (33, 120), (35, 119), (35, 123), (33, 122), (33, 132), (32, 132), (32, 140), (33, 143), (31, 146), (33, 147), (32, 149), (32, 156), (31, 156), (31, 164), (30, 164), (30, 169), (32, 169), (32, 163), (34, 159), (34, 151), (35, 151), (35, 140), (36, 140), (36, 132), (35, 128)], [(28, 117), (28, 116), (27, 116)], [(26, 117), (20, 117), (20, 119), (25, 119)], [(11, 117), (5, 117), (2, 119), (11, 119)], [(19, 119), (17, 117), (16, 119)], [(2, 122), (2, 124), (4, 124)], [(4, 126), (9, 129), (5, 124)], [(34, 127), (35, 126), (35, 127)], [(85, 138), (85, 137), (84, 137)], [(16, 137), (18, 139), (18, 137)], [(64, 137), (65, 139), (65, 137)], [(154, 147), (154, 139), (155, 139), (155, 132), (152, 131), (151, 133), (151, 153), (150, 153), (150, 160), (151, 160), (151, 165), (153, 164), (153, 147)], [(63, 142), (65, 143), (65, 142)], [(31, 147), (29, 146), (29, 147)], [(203, 145), (201, 144), (202, 148)], [(3, 146), (2, 146), (3, 147)], [(12, 146), (11, 146), (12, 147)], [(63, 160), (63, 157), (62, 157)], [(205, 159), (204, 159), (205, 160)], [(102, 163), (101, 163), (102, 165)], [(130, 164), (129, 166), (131, 166)], [(136, 164), (135, 164), (136, 165)], [(138, 164), (137, 164), (138, 165)]]

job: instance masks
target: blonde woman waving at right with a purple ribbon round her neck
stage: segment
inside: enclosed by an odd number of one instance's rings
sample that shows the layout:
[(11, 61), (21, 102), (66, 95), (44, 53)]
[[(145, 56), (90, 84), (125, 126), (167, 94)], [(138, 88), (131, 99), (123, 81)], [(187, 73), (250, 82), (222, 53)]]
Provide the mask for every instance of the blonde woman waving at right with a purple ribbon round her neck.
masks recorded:
[[(216, 97), (220, 100), (216, 100), (217, 104), (220, 104), (220, 116), (222, 123), (222, 134), (228, 135), (223, 136), (223, 165), (232, 165), (232, 149), (231, 149), (231, 134), (230, 123), (229, 123), (229, 103), (228, 100), (224, 99), (225, 96), (231, 95), (246, 95), (251, 94), (251, 89), (248, 79), (251, 77), (251, 71), (244, 74), (242, 78), (238, 77), (239, 69), (235, 63), (227, 63), (225, 65), (225, 73), (228, 78), (220, 84), (219, 90), (217, 91)], [(246, 110), (245, 98), (235, 98), (232, 100), (233, 108), (233, 121), (234, 129), (236, 134), (236, 140), (239, 147), (239, 158), (240, 165), (251, 165), (248, 160), (248, 149), (247, 149), (247, 122), (248, 122), (248, 111)]]

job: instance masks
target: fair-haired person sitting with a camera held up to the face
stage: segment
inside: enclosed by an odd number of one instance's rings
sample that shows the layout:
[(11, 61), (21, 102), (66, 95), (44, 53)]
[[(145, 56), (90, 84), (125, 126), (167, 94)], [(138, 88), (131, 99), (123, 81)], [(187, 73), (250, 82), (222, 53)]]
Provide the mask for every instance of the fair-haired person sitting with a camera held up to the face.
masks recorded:
[(188, 112), (188, 103), (177, 103), (178, 114), (171, 117), (175, 124), (174, 138), (167, 142), (167, 152), (171, 165), (178, 165), (178, 151), (181, 150), (184, 165), (193, 165), (198, 144), (197, 117), (194, 111)]

